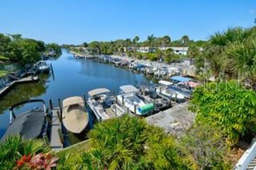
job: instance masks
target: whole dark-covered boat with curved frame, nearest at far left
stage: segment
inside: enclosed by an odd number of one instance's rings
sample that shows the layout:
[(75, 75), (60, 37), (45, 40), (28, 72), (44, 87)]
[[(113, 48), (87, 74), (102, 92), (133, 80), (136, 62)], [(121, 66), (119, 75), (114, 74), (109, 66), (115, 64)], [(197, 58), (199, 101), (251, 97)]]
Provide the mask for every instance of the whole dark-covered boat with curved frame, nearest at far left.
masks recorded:
[[(14, 109), (26, 104), (42, 104), (26, 112), (15, 114)], [(51, 126), (49, 114), (46, 112), (45, 102), (41, 99), (27, 100), (10, 107), (10, 126), (7, 128), (2, 140), (9, 135), (20, 135), (24, 139), (50, 139)]]

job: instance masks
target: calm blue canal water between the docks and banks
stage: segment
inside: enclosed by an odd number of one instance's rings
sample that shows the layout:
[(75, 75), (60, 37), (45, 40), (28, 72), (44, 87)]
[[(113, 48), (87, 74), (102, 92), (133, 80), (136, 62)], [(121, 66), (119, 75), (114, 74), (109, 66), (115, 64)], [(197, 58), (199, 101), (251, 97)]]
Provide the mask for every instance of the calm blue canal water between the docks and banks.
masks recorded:
[[(119, 87), (125, 84), (149, 84), (150, 80), (142, 74), (133, 73), (110, 64), (95, 60), (76, 60), (73, 54), (62, 49), (62, 55), (57, 60), (50, 61), (53, 65), (54, 77), (41, 74), (39, 82), (19, 84), (0, 100), (0, 138), (9, 126), (8, 108), (15, 103), (28, 99), (44, 99), (58, 106), (58, 98), (82, 96), (96, 88), (108, 88), (118, 93)], [(18, 113), (34, 106), (25, 105), (17, 109)], [(32, 127), (31, 127), (32, 128)], [(71, 143), (80, 139), (72, 138)]]

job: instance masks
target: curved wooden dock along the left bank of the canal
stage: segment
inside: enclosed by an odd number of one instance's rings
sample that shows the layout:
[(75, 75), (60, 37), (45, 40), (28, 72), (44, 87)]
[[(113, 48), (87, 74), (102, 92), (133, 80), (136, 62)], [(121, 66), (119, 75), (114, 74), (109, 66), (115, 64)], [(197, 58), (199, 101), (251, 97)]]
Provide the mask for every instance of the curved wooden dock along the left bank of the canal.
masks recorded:
[(32, 82), (32, 81), (38, 81), (39, 78), (37, 76), (29, 76), (26, 78), (21, 78), (19, 80), (14, 80), (11, 83), (7, 84), (4, 88), (0, 89), (0, 97), (4, 96), (6, 92), (8, 92), (13, 86), (19, 83), (26, 83), (26, 82)]

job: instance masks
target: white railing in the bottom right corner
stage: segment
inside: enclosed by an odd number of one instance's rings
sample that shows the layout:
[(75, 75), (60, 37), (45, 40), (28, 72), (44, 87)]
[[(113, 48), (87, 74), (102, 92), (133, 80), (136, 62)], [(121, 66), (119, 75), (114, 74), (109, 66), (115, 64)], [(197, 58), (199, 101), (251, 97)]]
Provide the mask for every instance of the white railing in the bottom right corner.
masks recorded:
[(247, 149), (243, 156), (238, 160), (237, 164), (235, 165), (235, 170), (244, 170), (250, 164), (252, 159), (256, 156), (256, 142), (253, 143), (251, 148)]

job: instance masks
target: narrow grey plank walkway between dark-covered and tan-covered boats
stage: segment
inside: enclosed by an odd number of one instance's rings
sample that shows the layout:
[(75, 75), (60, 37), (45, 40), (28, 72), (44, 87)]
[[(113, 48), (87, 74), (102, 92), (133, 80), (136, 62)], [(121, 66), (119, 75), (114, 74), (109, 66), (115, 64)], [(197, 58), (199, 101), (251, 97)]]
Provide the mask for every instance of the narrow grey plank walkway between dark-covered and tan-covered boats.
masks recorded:
[(51, 133), (50, 147), (55, 151), (59, 151), (63, 149), (63, 145), (62, 145), (62, 141), (60, 139), (60, 133), (59, 133), (59, 131), (61, 132), (61, 123), (58, 117), (58, 113), (60, 113), (59, 108), (52, 109), (52, 133)]

